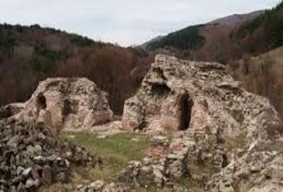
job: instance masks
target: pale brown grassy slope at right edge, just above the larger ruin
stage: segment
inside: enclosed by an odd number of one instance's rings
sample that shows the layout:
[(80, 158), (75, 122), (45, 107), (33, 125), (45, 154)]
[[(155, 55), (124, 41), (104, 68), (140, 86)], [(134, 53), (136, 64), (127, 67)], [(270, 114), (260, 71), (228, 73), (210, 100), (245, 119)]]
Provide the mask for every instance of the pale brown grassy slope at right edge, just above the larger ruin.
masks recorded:
[(268, 97), (283, 119), (283, 47), (227, 65), (250, 92)]

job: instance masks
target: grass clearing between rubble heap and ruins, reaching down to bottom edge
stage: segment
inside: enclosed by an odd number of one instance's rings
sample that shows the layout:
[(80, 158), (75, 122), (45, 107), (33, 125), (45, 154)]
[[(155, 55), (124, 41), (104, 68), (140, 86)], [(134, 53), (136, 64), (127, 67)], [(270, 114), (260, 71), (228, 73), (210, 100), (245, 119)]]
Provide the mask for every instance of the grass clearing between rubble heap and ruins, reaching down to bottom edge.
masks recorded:
[[(68, 183), (42, 187), (41, 192), (67, 192), (79, 184), (89, 184), (95, 180), (116, 180), (129, 161), (141, 160), (145, 156), (145, 150), (149, 146), (148, 136), (142, 134), (121, 133), (98, 139), (96, 134), (91, 133), (64, 133), (63, 137), (84, 146), (93, 154), (98, 154), (103, 165), (93, 169), (73, 168)], [(136, 141), (131, 141), (133, 138)]]

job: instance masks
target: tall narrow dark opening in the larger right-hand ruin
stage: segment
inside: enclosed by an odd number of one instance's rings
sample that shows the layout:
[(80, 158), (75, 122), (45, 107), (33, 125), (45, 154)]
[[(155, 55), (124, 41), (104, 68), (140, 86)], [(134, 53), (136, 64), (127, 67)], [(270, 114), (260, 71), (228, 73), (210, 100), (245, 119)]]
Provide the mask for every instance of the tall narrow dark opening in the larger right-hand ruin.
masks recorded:
[(180, 99), (180, 130), (186, 130), (189, 127), (192, 107), (192, 99), (186, 94)]

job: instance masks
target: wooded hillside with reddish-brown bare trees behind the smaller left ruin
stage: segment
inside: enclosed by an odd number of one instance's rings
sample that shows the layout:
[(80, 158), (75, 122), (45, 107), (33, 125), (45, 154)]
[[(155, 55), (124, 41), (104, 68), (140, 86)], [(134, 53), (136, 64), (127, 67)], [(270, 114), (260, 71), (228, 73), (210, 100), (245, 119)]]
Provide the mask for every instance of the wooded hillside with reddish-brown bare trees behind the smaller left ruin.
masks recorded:
[(0, 25), (0, 105), (27, 100), (47, 77), (87, 77), (122, 111), (137, 81), (132, 69), (149, 65), (149, 53), (95, 42), (51, 28)]

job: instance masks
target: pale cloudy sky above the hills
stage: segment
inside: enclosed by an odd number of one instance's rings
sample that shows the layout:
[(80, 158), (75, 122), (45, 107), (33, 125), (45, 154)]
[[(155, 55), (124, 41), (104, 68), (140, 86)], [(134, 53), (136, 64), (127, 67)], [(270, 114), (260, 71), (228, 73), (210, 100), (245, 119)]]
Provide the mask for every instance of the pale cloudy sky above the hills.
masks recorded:
[(54, 27), (96, 41), (138, 45), (157, 35), (280, 0), (2, 0), (0, 23)]

